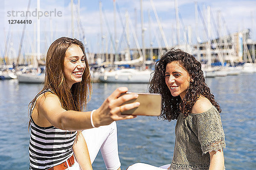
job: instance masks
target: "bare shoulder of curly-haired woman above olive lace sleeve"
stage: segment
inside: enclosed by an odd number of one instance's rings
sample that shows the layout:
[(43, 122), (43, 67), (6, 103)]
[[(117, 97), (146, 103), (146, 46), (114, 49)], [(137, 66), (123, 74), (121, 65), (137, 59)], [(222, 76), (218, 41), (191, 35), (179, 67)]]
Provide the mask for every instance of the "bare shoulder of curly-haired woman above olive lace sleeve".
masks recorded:
[(212, 108), (212, 103), (204, 96), (200, 96), (192, 108), (192, 113), (204, 113)]

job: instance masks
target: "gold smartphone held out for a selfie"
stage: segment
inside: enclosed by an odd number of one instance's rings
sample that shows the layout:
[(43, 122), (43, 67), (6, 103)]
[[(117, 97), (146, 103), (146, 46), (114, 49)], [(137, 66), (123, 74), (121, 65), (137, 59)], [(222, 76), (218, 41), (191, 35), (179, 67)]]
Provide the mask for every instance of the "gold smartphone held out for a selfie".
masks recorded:
[(143, 115), (143, 116), (160, 116), (162, 107), (162, 95), (151, 94), (151, 93), (137, 93), (137, 92), (126, 92), (126, 94), (138, 94), (137, 99), (132, 99), (124, 102), (122, 105), (140, 102), (140, 106), (128, 111), (122, 112), (122, 114), (128, 115)]

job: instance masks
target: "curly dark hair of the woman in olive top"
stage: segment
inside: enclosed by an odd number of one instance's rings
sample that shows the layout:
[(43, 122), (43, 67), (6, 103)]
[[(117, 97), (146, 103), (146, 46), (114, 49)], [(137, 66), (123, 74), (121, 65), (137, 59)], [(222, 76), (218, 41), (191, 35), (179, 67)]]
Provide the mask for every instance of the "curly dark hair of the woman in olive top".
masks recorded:
[[(165, 82), (166, 65), (173, 61), (177, 61), (193, 79), (193, 81), (189, 82), (189, 87), (186, 90), (183, 100), (181, 100), (180, 96), (172, 96)], [(185, 117), (188, 116), (200, 95), (209, 99), (212, 105), (221, 112), (220, 105), (214, 99), (213, 94), (211, 94), (205, 82), (201, 63), (194, 56), (180, 49), (172, 48), (170, 51), (164, 53), (161, 59), (157, 61), (152, 74), (153, 77), (149, 83), (149, 92), (160, 93), (163, 96), (161, 118), (171, 121), (177, 119), (180, 113), (183, 113)]]

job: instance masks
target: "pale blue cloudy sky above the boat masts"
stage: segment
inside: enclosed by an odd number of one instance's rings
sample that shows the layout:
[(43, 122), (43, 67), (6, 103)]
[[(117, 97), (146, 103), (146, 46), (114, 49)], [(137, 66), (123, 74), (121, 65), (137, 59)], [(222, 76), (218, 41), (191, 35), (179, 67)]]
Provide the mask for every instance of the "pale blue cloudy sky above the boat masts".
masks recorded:
[[(86, 52), (114, 51), (115, 45), (119, 52), (123, 52), (128, 44), (131, 48), (142, 47), (140, 0), (115, 0), (116, 27), (113, 0), (101, 1), (102, 15), (100, 15), (99, 0), (80, 0), (80, 7), (78, 0), (73, 0), (74, 35), (72, 34), (71, 0), (41, 0), (40, 10), (37, 6), (38, 1), (31, 0), (30, 16), (28, 17), (23, 15), (26, 14), (29, 0), (1, 1), (3, 1), (1, 3), (3, 5), (0, 7), (0, 21), (2, 23), (0, 24), (0, 38), (2, 40), (0, 41), (0, 56), (8, 54), (17, 57), (22, 33), (24, 33), (24, 38), (21, 53), (28, 54), (37, 51), (38, 11), (43, 14), (39, 17), (40, 52), (42, 54), (45, 54), (49, 45), (59, 37), (74, 37), (82, 40), (87, 49)], [(195, 26), (195, 2), (199, 8), (198, 36), (196, 36)], [(197, 39), (202, 42), (207, 40), (204, 28), (207, 28), (208, 6), (211, 11), (210, 38), (218, 37), (218, 34), (224, 36), (250, 28), (251, 39), (256, 41), (256, 0), (177, 0), (177, 5), (181, 43), (188, 42), (189, 28), (191, 28), (192, 44), (195, 44)], [(157, 22), (153, 7), (156, 9), (160, 24)], [(37, 15), (35, 16), (35, 14)], [(28, 20), (25, 22), (31, 23), (10, 24), (12, 20)], [(162, 34), (160, 27), (163, 28)], [(127, 34), (125, 33), (126, 28), (129, 30)], [(143, 0), (143, 28), (145, 47), (150, 45), (164, 47), (166, 43), (169, 46), (176, 45), (175, 0)]]

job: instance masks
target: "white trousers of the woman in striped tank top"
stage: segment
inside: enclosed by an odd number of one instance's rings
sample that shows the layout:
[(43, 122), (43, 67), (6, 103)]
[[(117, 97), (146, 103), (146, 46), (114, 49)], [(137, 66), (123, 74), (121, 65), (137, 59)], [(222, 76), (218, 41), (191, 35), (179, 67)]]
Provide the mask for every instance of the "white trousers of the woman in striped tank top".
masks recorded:
[(100, 150), (107, 170), (117, 170), (121, 167), (118, 155), (116, 122), (83, 130), (82, 134), (86, 141), (92, 164)]

